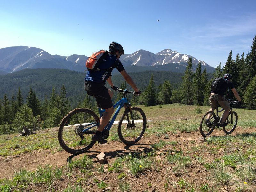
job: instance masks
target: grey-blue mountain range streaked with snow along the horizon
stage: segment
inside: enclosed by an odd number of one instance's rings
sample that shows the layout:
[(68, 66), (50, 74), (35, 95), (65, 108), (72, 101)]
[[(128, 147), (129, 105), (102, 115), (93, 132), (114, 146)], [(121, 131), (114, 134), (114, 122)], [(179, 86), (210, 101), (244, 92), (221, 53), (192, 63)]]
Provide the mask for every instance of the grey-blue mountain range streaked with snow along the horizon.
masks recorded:
[[(156, 54), (145, 50), (139, 50), (132, 54), (122, 55), (120, 60), (124, 66), (162, 66), (173, 63), (175, 68), (186, 66), (189, 59), (197, 65), (201, 62), (202, 66), (212, 71), (212, 67), (204, 61), (200, 61), (190, 55), (181, 54), (170, 49), (165, 49)], [(25, 68), (61, 68), (84, 72), (86, 70), (85, 62), (88, 59), (85, 55), (60, 56), (51, 55), (48, 52), (28, 46), (16, 46), (0, 49), (0, 74), (12, 73)], [(174, 70), (175, 70), (174, 68)]]

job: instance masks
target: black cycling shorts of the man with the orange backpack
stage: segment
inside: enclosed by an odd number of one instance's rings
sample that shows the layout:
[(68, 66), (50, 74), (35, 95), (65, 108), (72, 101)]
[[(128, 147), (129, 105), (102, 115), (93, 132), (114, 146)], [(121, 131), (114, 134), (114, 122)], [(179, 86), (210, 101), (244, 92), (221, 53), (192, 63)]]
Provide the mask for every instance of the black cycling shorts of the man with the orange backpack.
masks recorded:
[(102, 109), (113, 107), (111, 97), (108, 93), (108, 88), (102, 83), (93, 83), (85, 81), (84, 89), (88, 95), (93, 95)]

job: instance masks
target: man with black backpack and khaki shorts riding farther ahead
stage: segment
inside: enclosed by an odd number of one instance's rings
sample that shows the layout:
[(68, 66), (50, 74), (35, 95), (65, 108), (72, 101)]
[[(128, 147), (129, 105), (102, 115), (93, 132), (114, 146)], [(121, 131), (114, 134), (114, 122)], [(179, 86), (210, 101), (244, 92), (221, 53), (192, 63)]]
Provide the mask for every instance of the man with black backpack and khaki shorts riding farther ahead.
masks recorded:
[[(229, 73), (226, 73), (223, 76), (223, 78), (226, 80), (224, 84), (221, 85), (219, 90), (216, 90), (216, 91), (211, 90), (210, 98), (209, 98), (210, 105), (211, 105), (211, 109), (209, 111), (214, 111), (215, 109), (217, 109), (218, 103), (224, 109), (222, 118), (220, 120), (220, 127), (227, 126), (227, 123), (225, 121), (228, 117), (228, 113), (230, 109), (230, 104), (228, 100), (224, 97), (224, 93), (226, 92), (226, 90), (231, 89), (236, 99), (241, 103), (241, 98), (238, 92), (236, 91), (234, 84), (230, 81), (232, 79), (232, 75)], [(206, 121), (210, 119), (211, 115), (212, 114), (208, 114)]]

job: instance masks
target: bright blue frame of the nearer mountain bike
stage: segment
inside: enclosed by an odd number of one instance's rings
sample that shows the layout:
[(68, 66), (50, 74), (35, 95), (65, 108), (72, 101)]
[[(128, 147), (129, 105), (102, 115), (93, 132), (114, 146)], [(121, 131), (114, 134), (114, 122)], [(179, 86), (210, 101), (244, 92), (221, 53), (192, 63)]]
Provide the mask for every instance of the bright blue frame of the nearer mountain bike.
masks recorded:
[[(98, 104), (98, 103), (97, 103)], [(117, 109), (116, 109), (116, 111), (115, 111), (115, 113), (114, 113), (114, 115), (113, 115), (113, 117), (112, 117), (112, 119), (108, 122), (108, 124), (106, 125), (106, 127), (105, 127), (105, 129), (106, 130), (110, 130), (110, 128), (112, 127), (112, 125), (114, 124), (114, 121), (116, 120), (116, 117), (117, 117), (117, 115), (118, 115), (118, 113), (120, 112), (120, 110), (121, 110), (121, 108), (123, 107), (123, 106), (126, 106), (126, 105), (128, 105), (128, 106), (130, 106), (130, 103), (128, 103), (128, 100), (127, 100), (127, 98), (126, 97), (123, 97), (122, 99), (120, 99), (119, 101), (117, 101), (115, 104), (114, 104), (114, 108), (116, 108), (117, 106)], [(100, 108), (100, 106), (99, 106), (99, 104), (98, 104), (98, 110), (99, 110), (99, 114), (100, 114), (100, 118), (102, 117), (102, 115), (105, 113), (105, 109), (101, 109)], [(126, 107), (125, 107), (126, 108)], [(90, 126), (90, 125), (92, 125), (92, 126)], [(89, 126), (88, 128), (85, 128), (83, 131), (82, 131), (82, 133), (85, 133), (86, 131), (88, 131), (89, 129), (91, 129), (91, 128), (93, 128), (93, 127), (95, 127), (95, 126), (97, 126), (98, 124), (96, 124), (96, 122), (92, 122), (92, 123), (90, 123), (90, 124), (86, 124), (86, 126)]]

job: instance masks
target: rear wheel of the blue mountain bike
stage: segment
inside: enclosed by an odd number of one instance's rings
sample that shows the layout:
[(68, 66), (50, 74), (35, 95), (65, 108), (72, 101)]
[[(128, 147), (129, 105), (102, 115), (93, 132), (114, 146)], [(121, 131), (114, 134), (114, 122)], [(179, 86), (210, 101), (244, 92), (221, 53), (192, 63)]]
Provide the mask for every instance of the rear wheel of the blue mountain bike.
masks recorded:
[[(96, 132), (100, 119), (91, 109), (76, 108), (63, 117), (58, 131), (60, 146), (72, 154), (84, 153), (95, 141), (91, 137)], [(82, 133), (88, 127), (90, 130)]]

